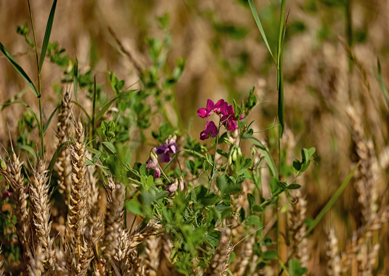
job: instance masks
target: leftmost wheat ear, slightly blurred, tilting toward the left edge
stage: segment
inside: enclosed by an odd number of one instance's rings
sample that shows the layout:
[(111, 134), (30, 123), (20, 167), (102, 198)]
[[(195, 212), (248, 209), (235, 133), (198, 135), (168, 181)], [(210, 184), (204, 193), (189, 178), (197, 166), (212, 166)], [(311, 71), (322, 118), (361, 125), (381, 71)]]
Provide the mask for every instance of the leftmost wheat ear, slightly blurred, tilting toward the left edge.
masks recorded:
[(24, 186), (24, 177), (21, 174), (23, 162), (20, 162), (19, 156), (16, 156), (14, 149), (12, 148), (12, 154), (7, 160), (5, 169), (0, 170), (0, 174), (6, 179), (7, 183), (12, 187), (12, 199), (15, 205), (14, 208), (16, 221), (16, 233), (21, 245), (22, 251), (22, 270), (27, 269), (27, 264), (30, 260), (27, 254), (27, 248), (31, 247), (31, 227), (30, 227), (30, 214), (27, 209), (27, 202), (29, 194), (26, 192)]

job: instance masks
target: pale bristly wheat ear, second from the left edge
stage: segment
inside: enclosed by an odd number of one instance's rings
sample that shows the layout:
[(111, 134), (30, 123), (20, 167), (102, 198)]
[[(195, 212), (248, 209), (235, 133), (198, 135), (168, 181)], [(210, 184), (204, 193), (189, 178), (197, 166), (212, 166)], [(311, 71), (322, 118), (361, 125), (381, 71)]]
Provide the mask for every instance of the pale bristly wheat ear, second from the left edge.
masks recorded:
[(41, 158), (38, 158), (30, 181), (31, 207), (37, 243), (42, 244), (42, 252), (45, 256), (42, 263), (45, 268), (45, 274), (53, 275), (55, 265), (55, 252), (53, 250), (54, 238), (50, 237), (53, 221), (49, 221), (51, 212), (46, 163)]

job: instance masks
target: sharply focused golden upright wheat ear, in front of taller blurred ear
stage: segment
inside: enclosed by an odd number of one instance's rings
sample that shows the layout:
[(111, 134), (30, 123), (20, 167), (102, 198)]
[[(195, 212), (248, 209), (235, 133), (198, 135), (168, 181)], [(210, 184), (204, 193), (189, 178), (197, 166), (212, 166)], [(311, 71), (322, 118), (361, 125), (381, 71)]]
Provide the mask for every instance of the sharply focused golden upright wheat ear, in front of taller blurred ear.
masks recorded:
[(75, 124), (74, 144), (69, 145), (69, 152), (72, 158), (72, 184), (70, 184), (70, 200), (68, 224), (74, 231), (77, 251), (81, 255), (81, 237), (84, 235), (88, 220), (88, 184), (86, 179), (86, 151), (84, 141), (84, 126), (79, 120)]

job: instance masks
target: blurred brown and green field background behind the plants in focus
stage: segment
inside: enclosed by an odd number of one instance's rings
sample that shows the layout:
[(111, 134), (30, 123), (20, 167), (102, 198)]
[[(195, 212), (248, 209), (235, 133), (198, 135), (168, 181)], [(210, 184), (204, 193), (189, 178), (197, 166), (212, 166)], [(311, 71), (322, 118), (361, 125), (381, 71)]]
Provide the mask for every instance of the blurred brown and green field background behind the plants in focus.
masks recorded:
[[(52, 1), (30, 2), (40, 45)], [(275, 53), (281, 1), (254, 2)], [(286, 1), (289, 16), (283, 57), (287, 130), (283, 148), (288, 149), (289, 163), (300, 156), (302, 148), (316, 148), (316, 164), (312, 163), (305, 176), (298, 179), (308, 201), (307, 217), (314, 218), (319, 213), (359, 160), (357, 145), (352, 139), (352, 121), (347, 115), (349, 106), (355, 109), (365, 138), (373, 141), (382, 172), (377, 184), (377, 204), (379, 207), (387, 205), (389, 112), (378, 82), (377, 57), (384, 83), (389, 85), (388, 12), (386, 0)], [(203, 130), (203, 120), (196, 117), (196, 110), (205, 107), (207, 99), (242, 101), (254, 85), (260, 104), (247, 121), (256, 120), (254, 131), (260, 131), (277, 120), (276, 69), (246, 0), (60, 0), (51, 41), (58, 41), (72, 59), (74, 53), (77, 54), (81, 72), (93, 69), (97, 81), (103, 85), (102, 91), (111, 97), (107, 72), (114, 71), (119, 80), (125, 80), (126, 87), (132, 85), (132, 88), (137, 88), (138, 76), (108, 27), (116, 31), (137, 62), (147, 67), (150, 61), (145, 37), (163, 39), (156, 18), (165, 13), (170, 16), (172, 35), (168, 66), (174, 68), (175, 59), (187, 57), (186, 69), (175, 85), (179, 118), (172, 121), (183, 128), (189, 125), (190, 134), (198, 137)], [(25, 0), (0, 0), (0, 41), (36, 83), (35, 52), (26, 52), (28, 46), (23, 36), (15, 31), (24, 21), (31, 26)], [(65, 86), (62, 78), (61, 69), (47, 62), (42, 71), (44, 120), (59, 101), (56, 91)], [(0, 102), (16, 96), (26, 87), (4, 56), (0, 56)], [(23, 94), (21, 100), (39, 110), (31, 91)], [(83, 104), (87, 110), (91, 109), (89, 101)], [(11, 136), (16, 137), (18, 118), (25, 112), (20, 106), (1, 111), (0, 139), (5, 147), (9, 146), (8, 128)], [(158, 125), (159, 122), (151, 122), (150, 130), (156, 130)], [(276, 151), (276, 129), (255, 135)], [(45, 143), (50, 144), (54, 136), (53, 131), (47, 134)], [(244, 146), (249, 150), (249, 144)], [(147, 159), (149, 149), (150, 146), (143, 145), (137, 156)], [(49, 148), (48, 154), (53, 150)], [(311, 235), (308, 274), (326, 274), (325, 248), (330, 227), (335, 229), (340, 241), (339, 250), (345, 250), (353, 231), (363, 224), (357, 199), (355, 185), (351, 184)], [(381, 246), (374, 273), (387, 275), (388, 225), (384, 224), (375, 236)]]

